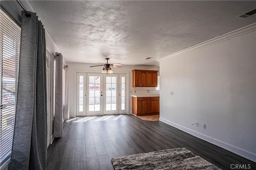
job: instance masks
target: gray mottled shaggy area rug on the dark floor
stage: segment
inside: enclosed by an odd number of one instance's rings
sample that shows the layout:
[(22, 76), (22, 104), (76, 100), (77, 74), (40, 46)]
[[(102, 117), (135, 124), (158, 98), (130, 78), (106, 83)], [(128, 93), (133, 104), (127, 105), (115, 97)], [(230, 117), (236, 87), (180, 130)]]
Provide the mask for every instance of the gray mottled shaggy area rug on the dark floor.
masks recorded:
[(221, 170), (186, 148), (112, 158), (115, 170)]

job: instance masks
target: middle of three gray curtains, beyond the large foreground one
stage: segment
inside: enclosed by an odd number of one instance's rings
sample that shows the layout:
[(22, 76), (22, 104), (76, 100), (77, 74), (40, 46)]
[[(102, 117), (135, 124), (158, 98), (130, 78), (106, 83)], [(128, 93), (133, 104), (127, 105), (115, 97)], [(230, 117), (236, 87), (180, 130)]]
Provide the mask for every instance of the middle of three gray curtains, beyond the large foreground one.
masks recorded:
[(62, 113), (62, 67), (63, 57), (61, 53), (56, 53), (56, 72), (55, 72), (55, 114), (53, 137), (61, 137), (63, 133), (63, 113)]

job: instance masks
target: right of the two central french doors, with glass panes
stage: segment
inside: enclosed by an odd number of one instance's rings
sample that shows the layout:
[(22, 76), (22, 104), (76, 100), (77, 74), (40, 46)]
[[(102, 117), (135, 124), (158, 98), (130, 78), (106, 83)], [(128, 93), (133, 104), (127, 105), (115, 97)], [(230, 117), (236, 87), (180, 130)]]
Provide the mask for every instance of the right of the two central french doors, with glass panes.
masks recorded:
[(104, 115), (118, 114), (118, 74), (104, 74)]

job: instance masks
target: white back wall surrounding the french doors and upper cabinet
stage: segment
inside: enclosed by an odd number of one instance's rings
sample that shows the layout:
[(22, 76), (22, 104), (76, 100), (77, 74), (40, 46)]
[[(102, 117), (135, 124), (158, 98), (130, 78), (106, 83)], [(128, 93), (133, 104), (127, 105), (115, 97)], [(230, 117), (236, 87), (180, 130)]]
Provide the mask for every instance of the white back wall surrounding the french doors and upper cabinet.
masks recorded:
[[(122, 63), (122, 62), (121, 62)], [(70, 117), (76, 117), (76, 72), (93, 72), (99, 73), (102, 71), (102, 67), (90, 67), (97, 64), (86, 64), (86, 63), (67, 63), (68, 72), (69, 72), (69, 114)], [(122, 68), (112, 68), (114, 73), (119, 74), (128, 74), (128, 95), (129, 95), (129, 108), (128, 113), (132, 112), (132, 97), (130, 90), (155, 90), (155, 88), (148, 87), (132, 87), (132, 70), (141, 69), (141, 70), (159, 70), (157, 66), (122, 66)], [(130, 88), (130, 89), (129, 89)]]

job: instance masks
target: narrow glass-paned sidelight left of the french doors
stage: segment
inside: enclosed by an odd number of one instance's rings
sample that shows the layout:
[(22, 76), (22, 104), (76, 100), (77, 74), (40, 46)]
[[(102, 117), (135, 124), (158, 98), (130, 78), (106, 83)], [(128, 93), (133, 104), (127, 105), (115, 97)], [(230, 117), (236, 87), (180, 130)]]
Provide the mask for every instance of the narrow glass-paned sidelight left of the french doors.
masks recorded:
[(86, 73), (76, 74), (76, 116), (86, 115)]

